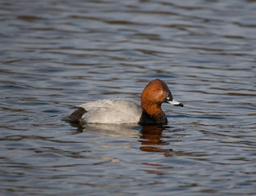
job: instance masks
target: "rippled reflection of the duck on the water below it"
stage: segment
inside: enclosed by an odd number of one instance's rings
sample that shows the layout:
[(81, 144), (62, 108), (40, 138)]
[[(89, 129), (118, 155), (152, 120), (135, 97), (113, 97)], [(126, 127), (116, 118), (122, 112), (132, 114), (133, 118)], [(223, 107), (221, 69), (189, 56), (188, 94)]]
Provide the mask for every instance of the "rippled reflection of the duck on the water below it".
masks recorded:
[(170, 140), (168, 136), (162, 136), (162, 131), (171, 129), (171, 127), (162, 125), (139, 126), (132, 124), (85, 124), (80, 126), (72, 122), (73, 127), (77, 127), (77, 131), (89, 134), (123, 138), (139, 138), (141, 143), (140, 150), (146, 152), (163, 153), (165, 156), (171, 155), (171, 149), (164, 148)]

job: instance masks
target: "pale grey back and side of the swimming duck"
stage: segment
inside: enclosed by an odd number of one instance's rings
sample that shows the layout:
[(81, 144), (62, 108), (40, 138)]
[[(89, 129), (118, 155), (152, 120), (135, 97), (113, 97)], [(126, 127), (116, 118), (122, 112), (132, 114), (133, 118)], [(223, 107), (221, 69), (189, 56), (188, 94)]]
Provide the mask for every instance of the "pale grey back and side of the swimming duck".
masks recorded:
[(142, 114), (139, 102), (129, 98), (97, 100), (79, 107), (85, 109), (80, 119), (85, 123), (138, 123)]

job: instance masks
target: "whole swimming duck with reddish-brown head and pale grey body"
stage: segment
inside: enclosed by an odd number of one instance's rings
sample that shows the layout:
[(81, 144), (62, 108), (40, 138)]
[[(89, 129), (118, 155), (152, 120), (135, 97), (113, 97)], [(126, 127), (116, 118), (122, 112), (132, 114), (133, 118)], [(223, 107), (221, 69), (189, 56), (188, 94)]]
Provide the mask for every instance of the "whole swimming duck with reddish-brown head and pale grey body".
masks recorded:
[(167, 117), (162, 111), (162, 103), (175, 106), (184, 105), (176, 101), (161, 79), (148, 83), (141, 93), (141, 101), (131, 98), (116, 98), (112, 100), (95, 100), (77, 106), (75, 112), (67, 116), (66, 121), (85, 123), (167, 124)]

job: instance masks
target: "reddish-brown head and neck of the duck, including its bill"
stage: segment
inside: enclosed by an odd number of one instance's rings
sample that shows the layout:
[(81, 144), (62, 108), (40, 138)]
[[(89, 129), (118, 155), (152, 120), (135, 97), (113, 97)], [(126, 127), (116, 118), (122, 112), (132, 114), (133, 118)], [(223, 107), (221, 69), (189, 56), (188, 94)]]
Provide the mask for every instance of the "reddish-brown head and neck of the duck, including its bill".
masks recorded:
[(155, 79), (149, 82), (141, 94), (142, 108), (154, 119), (165, 119), (165, 114), (161, 109), (163, 102), (181, 107), (183, 106), (181, 103), (173, 99), (171, 91), (165, 82), (160, 79)]

